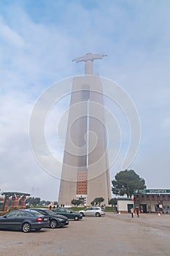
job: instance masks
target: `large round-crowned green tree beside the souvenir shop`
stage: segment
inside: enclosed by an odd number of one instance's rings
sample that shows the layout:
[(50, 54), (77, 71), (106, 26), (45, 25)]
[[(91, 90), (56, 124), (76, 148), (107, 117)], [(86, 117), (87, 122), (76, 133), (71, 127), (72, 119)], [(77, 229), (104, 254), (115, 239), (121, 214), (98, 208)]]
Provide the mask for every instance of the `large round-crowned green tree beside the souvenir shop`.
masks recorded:
[(134, 170), (121, 170), (112, 181), (112, 186), (114, 195), (127, 195), (127, 197), (134, 194), (134, 189), (146, 189), (144, 178), (141, 178)]

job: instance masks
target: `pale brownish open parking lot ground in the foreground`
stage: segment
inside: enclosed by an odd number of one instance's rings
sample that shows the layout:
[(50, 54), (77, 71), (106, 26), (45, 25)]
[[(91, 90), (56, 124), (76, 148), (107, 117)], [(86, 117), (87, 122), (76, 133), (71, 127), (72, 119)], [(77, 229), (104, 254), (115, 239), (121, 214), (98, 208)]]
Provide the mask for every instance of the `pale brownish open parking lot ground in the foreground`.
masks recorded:
[(170, 255), (170, 215), (106, 213), (39, 232), (0, 230), (1, 256)]

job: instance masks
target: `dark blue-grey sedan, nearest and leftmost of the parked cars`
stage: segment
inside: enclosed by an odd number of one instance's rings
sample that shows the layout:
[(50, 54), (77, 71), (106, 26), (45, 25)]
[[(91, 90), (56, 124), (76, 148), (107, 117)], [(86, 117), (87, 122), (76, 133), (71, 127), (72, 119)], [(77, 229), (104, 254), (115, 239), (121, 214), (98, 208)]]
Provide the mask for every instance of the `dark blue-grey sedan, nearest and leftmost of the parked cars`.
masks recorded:
[(49, 219), (38, 211), (15, 210), (0, 217), (0, 229), (23, 230), (28, 233), (31, 230), (41, 230), (49, 227)]

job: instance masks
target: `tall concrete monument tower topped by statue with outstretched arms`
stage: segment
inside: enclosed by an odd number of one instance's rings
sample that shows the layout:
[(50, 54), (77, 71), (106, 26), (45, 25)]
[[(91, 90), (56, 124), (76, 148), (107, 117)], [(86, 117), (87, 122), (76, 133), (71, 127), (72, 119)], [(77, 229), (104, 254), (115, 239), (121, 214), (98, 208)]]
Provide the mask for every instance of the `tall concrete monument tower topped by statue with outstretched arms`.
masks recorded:
[(93, 61), (104, 54), (87, 53), (73, 61), (85, 61), (85, 76), (73, 80), (72, 97), (63, 154), (58, 203), (81, 199), (90, 206), (96, 197), (107, 205), (111, 197), (107, 129), (103, 87), (93, 75)]

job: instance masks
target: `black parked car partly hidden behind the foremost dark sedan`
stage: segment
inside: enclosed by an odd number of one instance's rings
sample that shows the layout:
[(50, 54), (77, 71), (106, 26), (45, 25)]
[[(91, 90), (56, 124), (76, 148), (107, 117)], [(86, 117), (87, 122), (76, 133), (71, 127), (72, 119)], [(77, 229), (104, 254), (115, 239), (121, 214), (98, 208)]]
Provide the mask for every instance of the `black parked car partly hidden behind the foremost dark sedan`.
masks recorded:
[(55, 214), (47, 208), (30, 208), (30, 211), (39, 211), (40, 214), (47, 216), (50, 220), (50, 227), (63, 227), (69, 225), (69, 219), (63, 215)]

